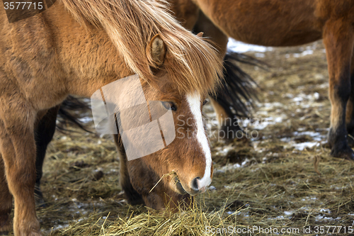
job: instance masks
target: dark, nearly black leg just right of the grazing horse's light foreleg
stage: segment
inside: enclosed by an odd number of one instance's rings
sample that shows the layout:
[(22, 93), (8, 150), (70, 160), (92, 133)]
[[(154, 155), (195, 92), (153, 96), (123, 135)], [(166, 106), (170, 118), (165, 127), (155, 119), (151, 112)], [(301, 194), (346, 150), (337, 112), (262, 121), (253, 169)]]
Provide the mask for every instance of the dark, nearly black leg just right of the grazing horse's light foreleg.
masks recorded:
[(42, 117), (39, 117), (38, 122), (35, 125), (35, 169), (37, 172), (35, 178), (35, 200), (38, 206), (44, 206), (45, 203), (42, 191), (40, 191), (40, 179), (42, 179), (43, 174), (42, 168), (45, 152), (55, 133), (58, 110), (59, 106), (50, 108), (44, 115), (42, 115)]

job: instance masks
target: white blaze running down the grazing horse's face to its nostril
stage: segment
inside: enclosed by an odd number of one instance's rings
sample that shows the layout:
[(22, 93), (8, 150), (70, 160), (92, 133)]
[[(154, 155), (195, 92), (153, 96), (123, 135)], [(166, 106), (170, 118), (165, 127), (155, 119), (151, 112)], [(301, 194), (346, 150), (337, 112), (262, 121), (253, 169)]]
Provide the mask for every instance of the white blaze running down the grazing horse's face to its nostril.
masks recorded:
[(210, 185), (212, 182), (212, 179), (210, 178), (212, 171), (212, 153), (210, 152), (209, 142), (207, 140), (207, 135), (205, 135), (204, 125), (202, 123), (202, 112), (200, 111), (200, 94), (197, 92), (194, 94), (188, 94), (186, 99), (196, 123), (197, 140), (205, 154), (204, 176), (198, 181), (198, 188), (201, 189), (202, 187)]

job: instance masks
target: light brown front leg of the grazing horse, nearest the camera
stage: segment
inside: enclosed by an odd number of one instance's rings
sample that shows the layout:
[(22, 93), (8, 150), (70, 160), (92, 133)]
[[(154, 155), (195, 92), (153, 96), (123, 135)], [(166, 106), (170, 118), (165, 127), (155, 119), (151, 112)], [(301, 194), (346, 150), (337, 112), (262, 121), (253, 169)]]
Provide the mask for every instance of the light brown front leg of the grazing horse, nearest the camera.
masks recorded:
[[(40, 234), (35, 214), (35, 113), (28, 103), (0, 97), (0, 152), (8, 189), (15, 200), (13, 231), (16, 236)], [(2, 204), (2, 203), (1, 203)]]

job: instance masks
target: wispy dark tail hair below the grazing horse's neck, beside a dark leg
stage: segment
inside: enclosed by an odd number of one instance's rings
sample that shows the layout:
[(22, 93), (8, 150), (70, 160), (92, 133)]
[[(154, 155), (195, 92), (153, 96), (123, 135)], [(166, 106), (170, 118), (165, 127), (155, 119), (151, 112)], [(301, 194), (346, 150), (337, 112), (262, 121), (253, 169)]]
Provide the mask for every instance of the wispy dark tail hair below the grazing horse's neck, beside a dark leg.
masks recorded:
[(78, 99), (74, 96), (68, 96), (59, 108), (57, 115), (57, 129), (67, 131), (67, 125), (74, 125), (82, 130), (90, 132), (86, 124), (80, 120), (89, 116), (91, 107), (86, 99)]

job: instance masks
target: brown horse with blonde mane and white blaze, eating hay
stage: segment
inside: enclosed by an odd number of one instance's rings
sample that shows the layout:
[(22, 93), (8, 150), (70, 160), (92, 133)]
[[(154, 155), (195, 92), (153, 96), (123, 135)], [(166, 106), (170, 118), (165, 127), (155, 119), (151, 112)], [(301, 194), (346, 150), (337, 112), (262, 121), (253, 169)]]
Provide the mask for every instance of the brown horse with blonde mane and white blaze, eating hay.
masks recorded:
[[(91, 96), (132, 74), (139, 75), (147, 101), (161, 101), (173, 111), (176, 128), (193, 132), (131, 161), (122, 174), (153, 208), (205, 191), (212, 162), (201, 108), (219, 82), (221, 60), (166, 13), (164, 1), (60, 0), (15, 23), (8, 23), (1, 5), (0, 22), (0, 232), (11, 227), (14, 198), (15, 235), (40, 235), (33, 196), (38, 127), (53, 126), (44, 121), (68, 94)], [(181, 124), (182, 118), (193, 122)], [(149, 194), (171, 172), (159, 192)]]

